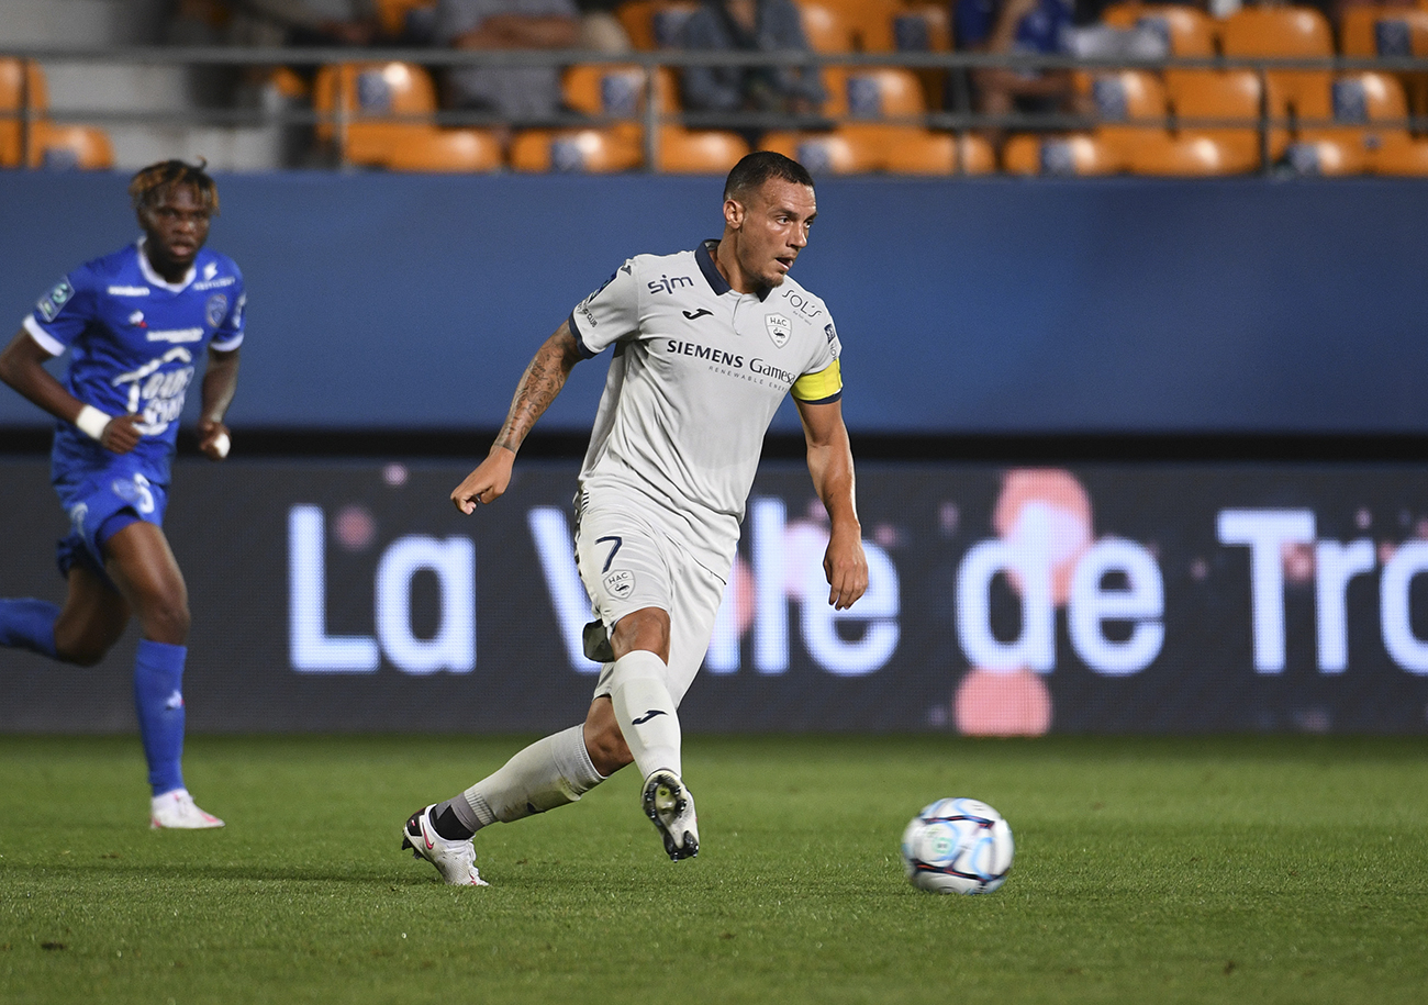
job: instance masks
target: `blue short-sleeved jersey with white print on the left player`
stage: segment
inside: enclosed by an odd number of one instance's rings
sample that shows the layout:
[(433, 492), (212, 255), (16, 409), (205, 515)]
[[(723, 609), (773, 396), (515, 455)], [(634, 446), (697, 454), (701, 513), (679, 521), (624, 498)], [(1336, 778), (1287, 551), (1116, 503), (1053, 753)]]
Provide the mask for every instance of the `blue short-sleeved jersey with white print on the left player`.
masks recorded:
[[(169, 283), (143, 246), (140, 238), (76, 268), (36, 304), (24, 328), (51, 355), (70, 350), (64, 385), (76, 398), (110, 415), (143, 415), (143, 438), (126, 467), (167, 485), (198, 357), (210, 345), (231, 351), (243, 343), (246, 297), (231, 258), (201, 248), (188, 274)], [(56, 481), (111, 460), (87, 434), (57, 424)]]

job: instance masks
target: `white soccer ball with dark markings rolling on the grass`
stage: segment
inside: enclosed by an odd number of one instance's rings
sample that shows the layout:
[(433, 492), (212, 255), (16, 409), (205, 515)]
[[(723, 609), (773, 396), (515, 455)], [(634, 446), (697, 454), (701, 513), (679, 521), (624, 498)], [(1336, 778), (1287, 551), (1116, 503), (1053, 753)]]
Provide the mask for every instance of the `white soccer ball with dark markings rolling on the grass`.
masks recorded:
[(938, 799), (902, 831), (902, 865), (918, 889), (990, 894), (1011, 872), (1011, 825), (977, 799)]

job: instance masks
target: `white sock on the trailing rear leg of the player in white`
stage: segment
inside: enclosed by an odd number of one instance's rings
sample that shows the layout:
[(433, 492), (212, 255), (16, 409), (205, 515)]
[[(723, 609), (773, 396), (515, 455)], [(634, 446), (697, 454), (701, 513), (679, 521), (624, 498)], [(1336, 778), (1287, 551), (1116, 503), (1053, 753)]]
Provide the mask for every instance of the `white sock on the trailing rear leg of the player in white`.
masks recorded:
[(604, 779), (585, 749), (584, 725), (573, 725), (537, 739), (468, 788), (464, 795), (473, 818), (461, 812), (460, 799), (453, 805), (463, 824), (480, 831), (496, 821), (510, 824), (577, 802)]

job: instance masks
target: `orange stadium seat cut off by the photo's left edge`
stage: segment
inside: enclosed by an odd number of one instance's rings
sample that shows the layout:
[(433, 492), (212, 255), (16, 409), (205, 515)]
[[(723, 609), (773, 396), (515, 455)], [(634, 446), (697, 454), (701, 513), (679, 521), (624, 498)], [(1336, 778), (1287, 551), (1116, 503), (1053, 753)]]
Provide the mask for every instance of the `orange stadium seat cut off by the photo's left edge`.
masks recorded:
[[(23, 113), (29, 108), (26, 133)], [(94, 126), (57, 126), (46, 111), (44, 70), (33, 60), (0, 59), (0, 167), (107, 170), (114, 166), (109, 133)], [(29, 157), (26, 158), (26, 151)]]

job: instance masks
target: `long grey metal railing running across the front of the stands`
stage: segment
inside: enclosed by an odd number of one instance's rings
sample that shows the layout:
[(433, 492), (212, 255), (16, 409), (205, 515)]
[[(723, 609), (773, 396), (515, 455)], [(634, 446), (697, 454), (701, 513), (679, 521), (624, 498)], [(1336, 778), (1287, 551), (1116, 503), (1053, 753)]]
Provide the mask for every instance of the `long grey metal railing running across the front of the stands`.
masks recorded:
[[(1264, 170), (1269, 170), (1269, 138), (1277, 130), (1298, 128), (1328, 128), (1344, 127), (1348, 123), (1337, 120), (1314, 120), (1304, 117), (1275, 116), (1269, 107), (1268, 76), (1277, 71), (1319, 70), (1328, 73), (1347, 71), (1381, 71), (1392, 74), (1428, 74), (1428, 59), (1362, 59), (1362, 57), (1325, 57), (1325, 59), (1257, 59), (1257, 57), (1200, 57), (1200, 59), (1101, 59), (1101, 57), (1068, 57), (1068, 56), (1037, 56), (1037, 54), (987, 54), (965, 51), (898, 51), (898, 53), (810, 53), (801, 50), (784, 50), (770, 53), (734, 53), (734, 51), (691, 51), (691, 50), (657, 50), (607, 53), (594, 50), (520, 50), (520, 51), (458, 51), (447, 49), (407, 49), (407, 47), (374, 47), (374, 49), (330, 49), (330, 47), (284, 47), (284, 49), (240, 49), (240, 47), (188, 47), (188, 46), (136, 46), (121, 49), (57, 49), (57, 47), (10, 47), (0, 50), (0, 59), (34, 60), (43, 64), (129, 64), (129, 66), (166, 66), (166, 67), (230, 67), (230, 69), (271, 69), (271, 67), (321, 67), (340, 64), (368, 64), (368, 63), (410, 63), (427, 69), (463, 69), (463, 67), (570, 67), (577, 64), (594, 66), (637, 66), (644, 71), (643, 108), (638, 121), (644, 134), (644, 164), (645, 170), (654, 170), (657, 164), (658, 133), (663, 124), (680, 124), (690, 128), (713, 127), (721, 128), (741, 127), (751, 130), (800, 130), (827, 128), (830, 124), (843, 121), (870, 121), (865, 117), (844, 114), (833, 117), (825, 113), (815, 114), (783, 114), (768, 111), (674, 111), (661, 114), (657, 96), (657, 73), (661, 69), (680, 70), (683, 67), (750, 67), (750, 66), (795, 66), (863, 69), (863, 67), (898, 67), (914, 71), (938, 71), (947, 74), (950, 81), (947, 94), (951, 107), (930, 110), (918, 116), (908, 117), (880, 117), (877, 121), (888, 124), (921, 126), (928, 130), (962, 134), (977, 130), (1000, 130), (1007, 133), (1018, 131), (1078, 131), (1091, 130), (1098, 126), (1115, 126), (1147, 130), (1162, 128), (1245, 128), (1244, 118), (1187, 118), (1171, 113), (1167, 117), (1128, 117), (1107, 120), (1098, 116), (1080, 116), (1067, 113), (1011, 113), (984, 114), (971, 107), (968, 76), (987, 69), (1007, 69), (1017, 71), (1045, 71), (1045, 70), (1080, 70), (1088, 73), (1108, 70), (1147, 70), (1162, 73), (1165, 70), (1251, 70), (1259, 79), (1259, 110), (1254, 118), (1254, 128), (1261, 140), (1261, 163)], [(507, 126), (507, 120), (497, 114), (473, 110), (438, 108), (434, 114), (397, 116), (353, 113), (343, 101), (336, 101), (331, 110), (310, 107), (184, 107), (184, 108), (79, 108), (63, 110), (37, 108), (27, 96), (19, 108), (0, 108), (0, 121), (19, 120), (21, 133), (20, 164), (30, 163), (29, 143), (33, 124), (41, 116), (63, 123), (87, 124), (201, 124), (220, 127), (317, 127), (331, 126), (337, 136), (338, 164), (344, 144), (341, 138), (347, 127), (356, 118), (383, 121), (411, 121), (433, 123), (443, 127), (476, 127), (493, 128)], [(617, 121), (631, 121), (630, 117), (618, 116), (590, 116), (564, 114), (557, 116), (553, 127), (588, 127), (608, 126)], [(1352, 123), (1355, 126), (1371, 126), (1374, 128), (1405, 128), (1415, 134), (1428, 133), (1428, 114), (1419, 110), (1417, 116), (1401, 120), (1372, 120), (1371, 123)]]

